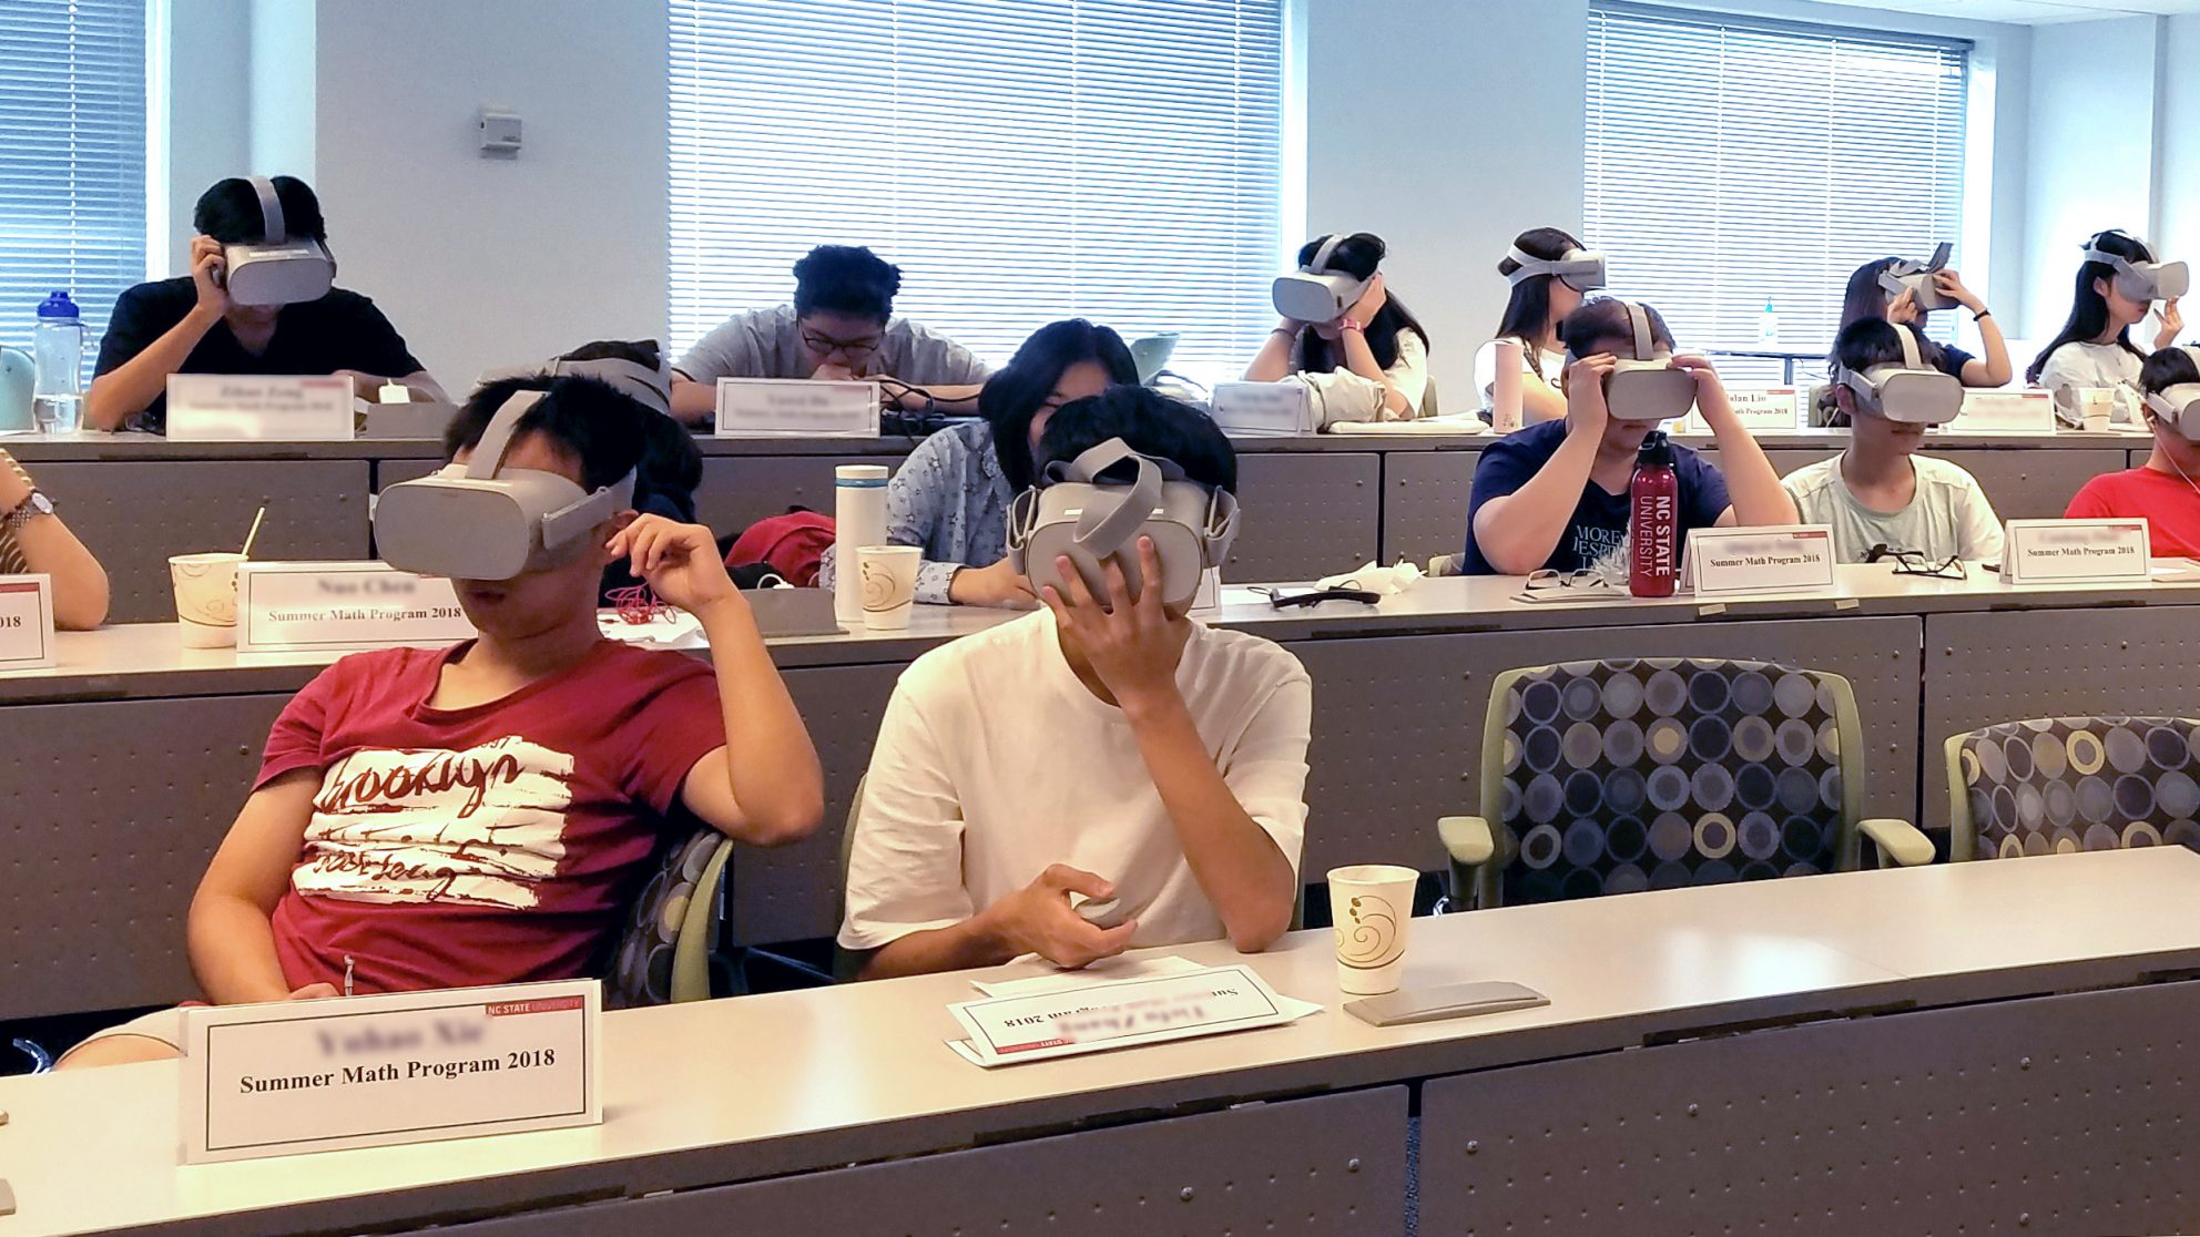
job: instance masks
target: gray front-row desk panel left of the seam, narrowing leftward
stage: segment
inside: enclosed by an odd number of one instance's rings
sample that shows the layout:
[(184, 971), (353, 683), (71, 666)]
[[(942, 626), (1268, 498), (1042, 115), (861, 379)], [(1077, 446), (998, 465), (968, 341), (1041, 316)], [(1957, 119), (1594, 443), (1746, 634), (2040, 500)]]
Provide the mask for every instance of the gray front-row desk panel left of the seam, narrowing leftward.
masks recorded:
[(1399, 1235), (1406, 1087), (460, 1224), (480, 1237)]

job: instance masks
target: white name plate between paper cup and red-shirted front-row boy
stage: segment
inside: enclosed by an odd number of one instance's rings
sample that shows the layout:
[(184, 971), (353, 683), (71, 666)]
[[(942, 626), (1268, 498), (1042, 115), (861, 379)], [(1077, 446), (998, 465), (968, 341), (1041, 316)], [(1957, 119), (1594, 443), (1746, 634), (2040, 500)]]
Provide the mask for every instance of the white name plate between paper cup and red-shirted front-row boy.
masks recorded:
[(244, 563), (238, 652), (383, 649), (473, 638), (451, 581), (378, 561)]

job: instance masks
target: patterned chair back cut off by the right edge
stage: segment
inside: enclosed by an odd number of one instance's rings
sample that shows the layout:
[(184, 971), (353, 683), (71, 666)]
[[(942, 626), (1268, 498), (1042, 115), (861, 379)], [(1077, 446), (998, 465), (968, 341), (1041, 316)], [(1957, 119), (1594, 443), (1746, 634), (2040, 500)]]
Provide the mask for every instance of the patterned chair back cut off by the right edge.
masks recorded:
[(2200, 720), (2037, 718), (1947, 742), (1956, 858), (2200, 850)]

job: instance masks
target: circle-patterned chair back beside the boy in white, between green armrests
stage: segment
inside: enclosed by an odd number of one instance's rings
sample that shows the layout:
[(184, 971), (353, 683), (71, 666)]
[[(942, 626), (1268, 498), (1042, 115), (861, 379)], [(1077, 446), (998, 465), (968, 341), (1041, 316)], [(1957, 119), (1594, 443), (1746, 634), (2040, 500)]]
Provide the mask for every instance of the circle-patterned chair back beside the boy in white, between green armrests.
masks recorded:
[(1564, 663), (1498, 676), (1478, 905), (1855, 867), (1857, 700), (1837, 674), (1725, 658)]

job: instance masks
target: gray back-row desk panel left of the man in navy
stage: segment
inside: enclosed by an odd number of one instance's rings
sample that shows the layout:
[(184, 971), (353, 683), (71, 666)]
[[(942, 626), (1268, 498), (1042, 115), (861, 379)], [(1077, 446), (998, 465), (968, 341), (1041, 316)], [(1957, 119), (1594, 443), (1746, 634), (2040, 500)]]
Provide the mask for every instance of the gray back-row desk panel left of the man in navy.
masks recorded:
[(1318, 579), (1382, 548), (1382, 456), (1269, 453), (1239, 460), (1245, 528), (1225, 581)]

